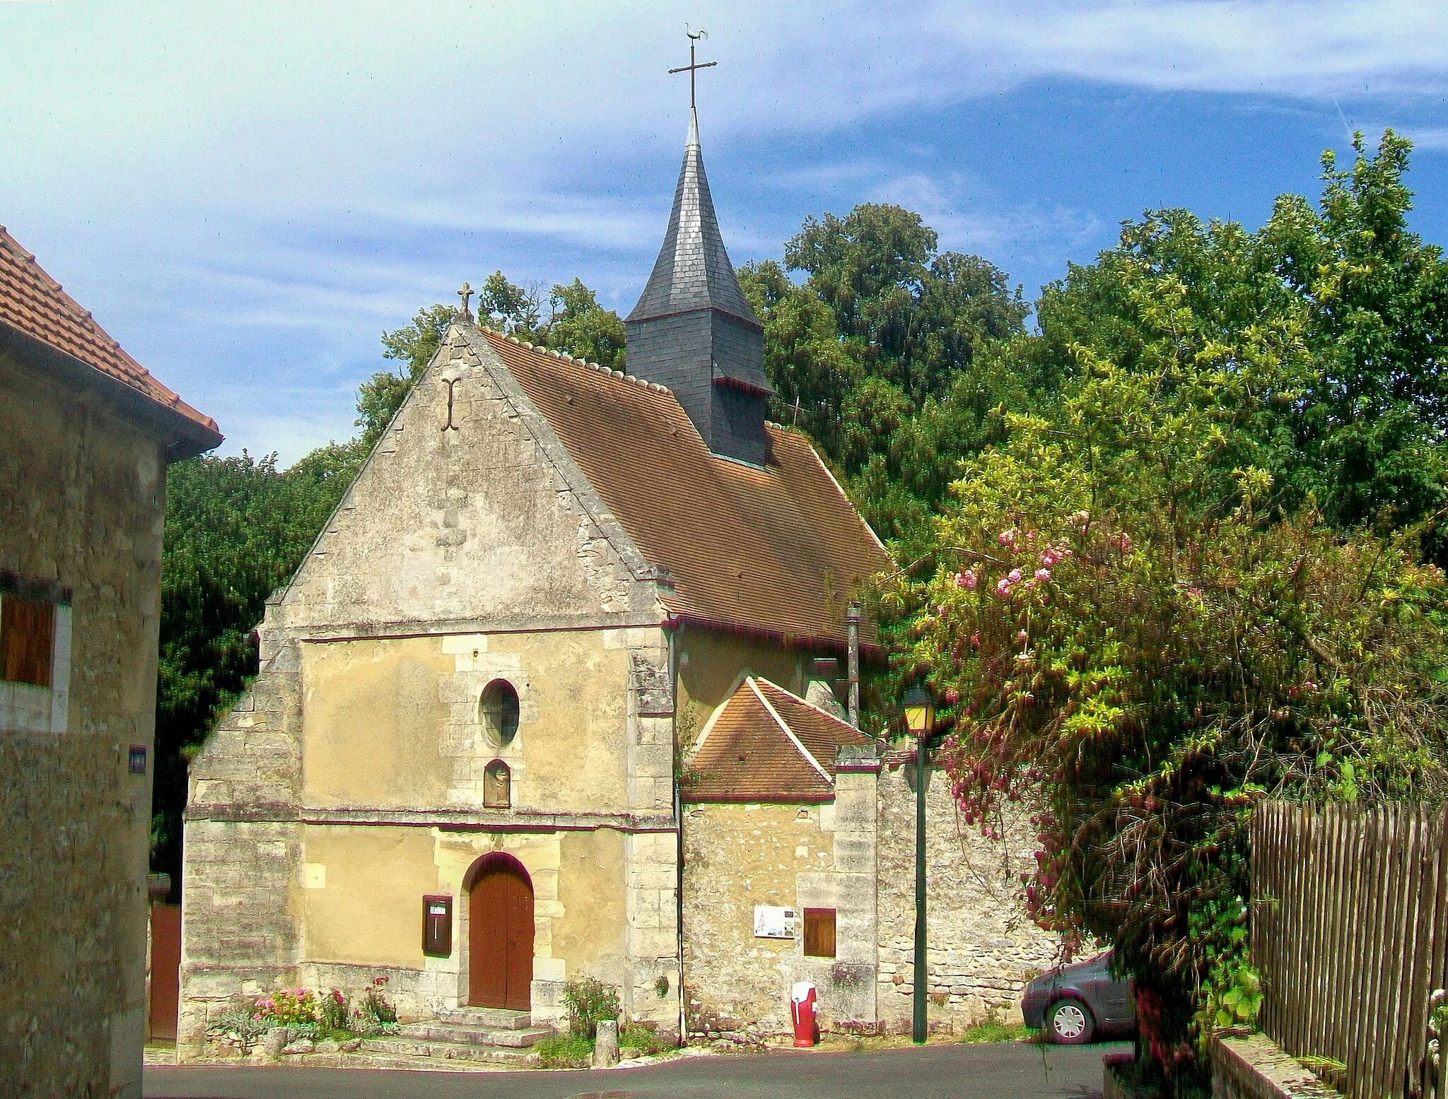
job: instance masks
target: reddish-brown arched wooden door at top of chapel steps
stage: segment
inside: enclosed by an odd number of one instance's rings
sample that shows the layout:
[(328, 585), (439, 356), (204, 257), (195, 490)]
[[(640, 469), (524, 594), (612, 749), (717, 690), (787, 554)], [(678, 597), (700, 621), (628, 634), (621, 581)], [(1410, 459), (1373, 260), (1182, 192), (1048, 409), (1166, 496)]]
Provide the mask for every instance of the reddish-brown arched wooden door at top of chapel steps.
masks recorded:
[(533, 883), (508, 854), (485, 854), (468, 890), (468, 1002), (529, 1011), (533, 982)]

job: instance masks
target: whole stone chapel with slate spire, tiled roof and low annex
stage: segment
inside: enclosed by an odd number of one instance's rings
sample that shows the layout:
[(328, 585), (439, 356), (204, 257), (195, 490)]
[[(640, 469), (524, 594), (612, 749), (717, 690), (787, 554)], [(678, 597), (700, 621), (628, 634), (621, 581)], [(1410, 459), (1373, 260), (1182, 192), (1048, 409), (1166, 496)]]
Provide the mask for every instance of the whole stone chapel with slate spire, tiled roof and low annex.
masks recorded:
[[(782, 1031), (811, 979), (827, 1022), (908, 1027), (908, 769), (820, 670), (891, 559), (766, 423), (692, 111), (626, 324), (628, 375), (465, 301), (268, 601), (261, 673), (191, 766), (182, 1058), (245, 996), (379, 974), (404, 1019), (557, 1024), (591, 976), (669, 1037)], [(1051, 947), (944, 786), (933, 1012), (1009, 1012)]]

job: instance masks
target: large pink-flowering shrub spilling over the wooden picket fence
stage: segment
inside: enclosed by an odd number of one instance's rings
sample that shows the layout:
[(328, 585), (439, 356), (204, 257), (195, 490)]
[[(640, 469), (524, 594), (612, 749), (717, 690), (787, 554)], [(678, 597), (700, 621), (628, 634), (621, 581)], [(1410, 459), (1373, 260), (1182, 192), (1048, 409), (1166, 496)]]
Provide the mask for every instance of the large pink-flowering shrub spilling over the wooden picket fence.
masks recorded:
[(1211, 465), (1211, 416), (1090, 369), (1064, 426), (1008, 417), (937, 520), (938, 572), (882, 599), (953, 725), (964, 820), (996, 837), (1024, 807), (1031, 917), (1115, 947), (1177, 1064), (1247, 964), (1258, 799), (1448, 795), (1448, 589), (1415, 531), (1286, 518), (1264, 471)]

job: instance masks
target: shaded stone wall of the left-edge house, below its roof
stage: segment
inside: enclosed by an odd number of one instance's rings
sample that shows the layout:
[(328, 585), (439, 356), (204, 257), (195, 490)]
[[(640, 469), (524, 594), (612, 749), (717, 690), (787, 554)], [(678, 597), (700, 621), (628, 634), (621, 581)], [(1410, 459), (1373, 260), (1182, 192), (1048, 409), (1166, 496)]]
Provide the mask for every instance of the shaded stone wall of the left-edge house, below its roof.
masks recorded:
[(0, 728), (0, 1095), (139, 1096), (164, 453), (4, 356), (0, 439), (0, 569), (72, 615), (64, 731)]

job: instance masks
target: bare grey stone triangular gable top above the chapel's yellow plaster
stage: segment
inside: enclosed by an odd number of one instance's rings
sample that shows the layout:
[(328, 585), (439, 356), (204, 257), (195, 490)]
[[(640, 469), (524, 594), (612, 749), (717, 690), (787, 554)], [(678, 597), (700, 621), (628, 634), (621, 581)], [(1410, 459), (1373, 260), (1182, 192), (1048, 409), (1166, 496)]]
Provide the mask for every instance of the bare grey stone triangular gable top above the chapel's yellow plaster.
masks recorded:
[(640, 562), (588, 514), (586, 482), (559, 475), (566, 452), (520, 403), (487, 342), (455, 324), (264, 636), (657, 615)]

